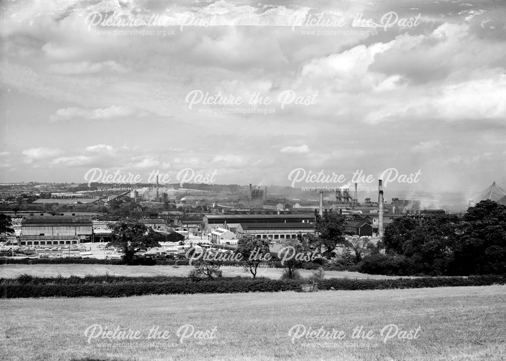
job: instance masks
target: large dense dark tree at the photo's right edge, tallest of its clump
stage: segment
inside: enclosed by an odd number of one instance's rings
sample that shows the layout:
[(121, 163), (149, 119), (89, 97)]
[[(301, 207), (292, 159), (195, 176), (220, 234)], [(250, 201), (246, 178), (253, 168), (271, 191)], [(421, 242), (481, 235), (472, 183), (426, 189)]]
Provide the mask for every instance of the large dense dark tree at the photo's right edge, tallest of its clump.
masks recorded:
[(455, 263), (461, 274), (506, 272), (506, 206), (487, 199), (468, 208)]

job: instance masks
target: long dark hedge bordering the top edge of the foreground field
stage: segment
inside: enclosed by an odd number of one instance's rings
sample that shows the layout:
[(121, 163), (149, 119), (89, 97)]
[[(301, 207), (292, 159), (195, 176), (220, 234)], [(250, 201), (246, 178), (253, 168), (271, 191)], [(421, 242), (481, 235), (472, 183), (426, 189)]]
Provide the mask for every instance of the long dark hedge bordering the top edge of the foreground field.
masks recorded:
[[(101, 278), (102, 277), (102, 278)], [(109, 277), (109, 282), (103, 277)], [(69, 277), (71, 278), (71, 277)], [(19, 297), (128, 297), (157, 294), (195, 293), (238, 293), (300, 291), (303, 281), (276, 280), (269, 278), (221, 278), (190, 282), (185, 277), (83, 277), (78, 282), (69, 278), (40, 278), (48, 283), (37, 283), (35, 279), (23, 283), (22, 277), (15, 280), (0, 279), (2, 298)], [(86, 282), (86, 279), (92, 282)], [(49, 283), (49, 280), (52, 283)], [(67, 279), (67, 281), (65, 281)], [(100, 281), (102, 279), (102, 281)], [(111, 282), (112, 280), (112, 282)], [(118, 282), (114, 282), (117, 280)], [(26, 280), (25, 280), (26, 281)], [(100, 283), (102, 282), (102, 283)], [(453, 286), (489, 286), (506, 284), (506, 275), (480, 275), (470, 277), (420, 277), (396, 279), (324, 279), (320, 290), (387, 290), (405, 288), (434, 288)]]

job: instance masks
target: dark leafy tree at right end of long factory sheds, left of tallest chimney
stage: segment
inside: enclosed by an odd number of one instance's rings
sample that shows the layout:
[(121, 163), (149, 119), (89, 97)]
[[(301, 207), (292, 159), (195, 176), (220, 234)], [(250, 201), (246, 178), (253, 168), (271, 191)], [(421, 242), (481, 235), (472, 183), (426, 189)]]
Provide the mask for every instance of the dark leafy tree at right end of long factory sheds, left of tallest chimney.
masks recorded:
[(347, 244), (345, 224), (346, 218), (338, 213), (328, 212), (316, 218), (315, 229), (318, 232), (320, 245), (325, 249), (323, 256), (327, 259), (335, 256), (335, 247)]

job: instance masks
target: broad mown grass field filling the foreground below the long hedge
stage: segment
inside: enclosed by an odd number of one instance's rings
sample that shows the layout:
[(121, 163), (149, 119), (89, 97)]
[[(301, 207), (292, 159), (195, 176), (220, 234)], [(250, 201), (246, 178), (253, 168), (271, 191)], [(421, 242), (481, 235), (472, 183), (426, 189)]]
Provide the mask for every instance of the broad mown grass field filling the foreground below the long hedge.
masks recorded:
[[(0, 359), (501, 360), (506, 357), (504, 299), (506, 287), (488, 286), (2, 300)], [(88, 343), (85, 331), (94, 324), (138, 331), (140, 339), (98, 337)], [(181, 343), (177, 330), (187, 324), (194, 332)], [(342, 330), (345, 338), (302, 337), (292, 343), (288, 332), (295, 325)], [(419, 328), (411, 334), (417, 338), (384, 343), (379, 330), (387, 325)], [(352, 339), (360, 326), (374, 337)], [(168, 338), (148, 340), (156, 327)], [(196, 334), (213, 338), (195, 339)]]

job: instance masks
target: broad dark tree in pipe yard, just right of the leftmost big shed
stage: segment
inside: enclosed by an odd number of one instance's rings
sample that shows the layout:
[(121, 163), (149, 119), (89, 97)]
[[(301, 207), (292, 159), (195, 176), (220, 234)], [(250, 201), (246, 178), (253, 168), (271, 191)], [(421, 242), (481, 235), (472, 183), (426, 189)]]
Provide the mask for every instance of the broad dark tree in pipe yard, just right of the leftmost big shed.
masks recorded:
[(140, 222), (119, 221), (109, 225), (109, 228), (112, 229), (112, 241), (107, 246), (119, 248), (126, 264), (133, 264), (135, 252), (160, 247), (153, 229), (148, 229)]

